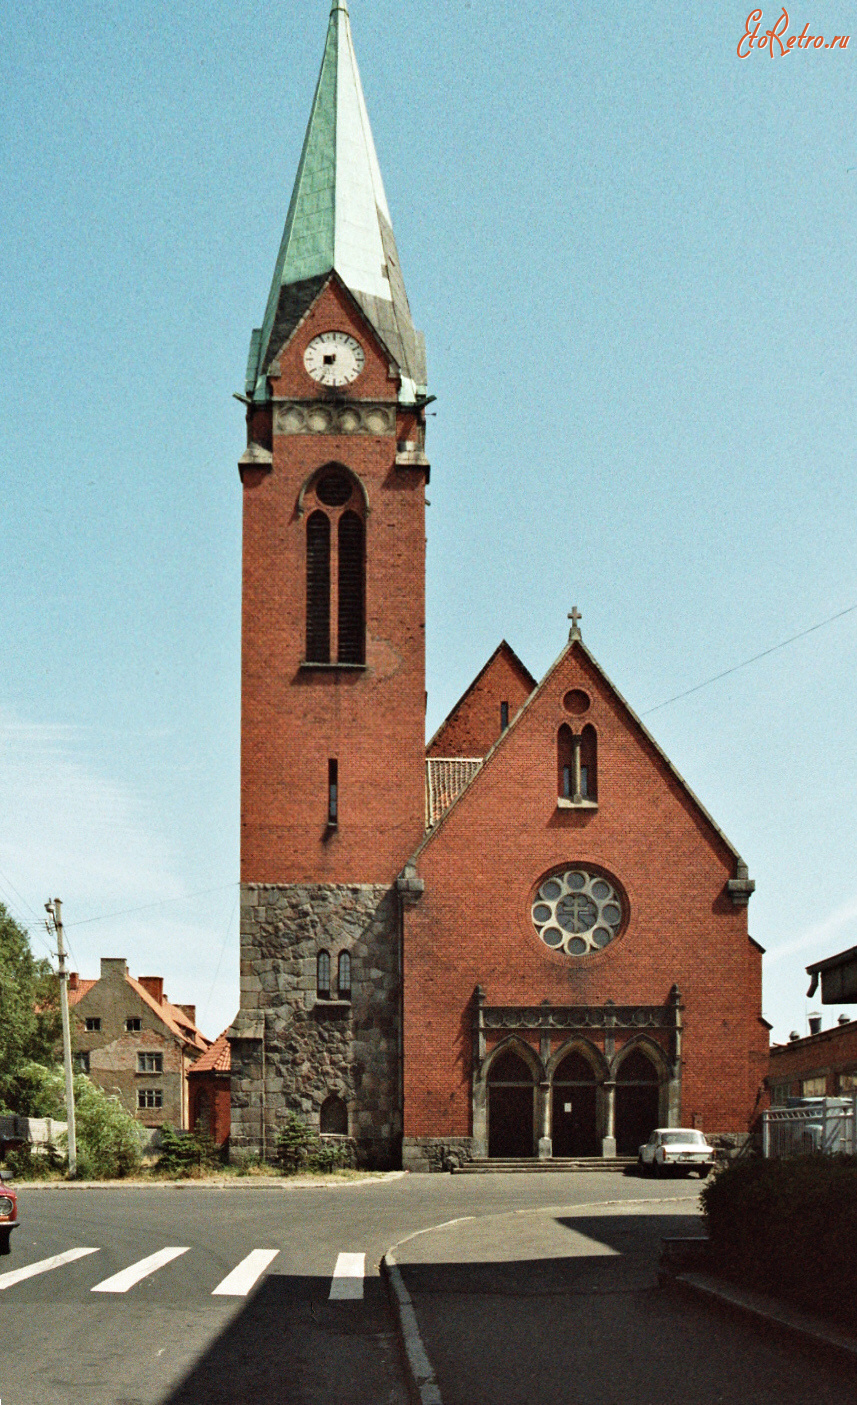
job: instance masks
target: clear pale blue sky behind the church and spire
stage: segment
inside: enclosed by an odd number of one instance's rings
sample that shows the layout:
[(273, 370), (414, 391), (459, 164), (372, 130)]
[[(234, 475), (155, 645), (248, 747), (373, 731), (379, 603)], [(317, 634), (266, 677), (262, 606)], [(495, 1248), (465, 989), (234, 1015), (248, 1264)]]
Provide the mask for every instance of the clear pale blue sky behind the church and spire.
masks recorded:
[[(781, 6), (764, 10), (764, 22)], [(857, 6), (353, 0), (428, 344), (428, 731), (572, 604), (643, 715), (857, 604)], [(237, 1006), (240, 490), (326, 0), (6, 7), (0, 899)], [(466, 618), (466, 629), (462, 620)], [(857, 611), (646, 717), (746, 857), (774, 1037), (857, 943)], [(830, 1023), (837, 1010), (825, 1016)]]

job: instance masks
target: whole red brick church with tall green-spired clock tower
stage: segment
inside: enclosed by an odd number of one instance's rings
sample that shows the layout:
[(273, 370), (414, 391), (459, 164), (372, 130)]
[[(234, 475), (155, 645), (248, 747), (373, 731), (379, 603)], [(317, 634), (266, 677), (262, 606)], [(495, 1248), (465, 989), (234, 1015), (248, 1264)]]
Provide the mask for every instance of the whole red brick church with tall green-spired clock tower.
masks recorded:
[(244, 400), (232, 1144), (289, 1111), (412, 1169), (746, 1132), (753, 884), (577, 610), (426, 746), (426, 353), (344, 0)]

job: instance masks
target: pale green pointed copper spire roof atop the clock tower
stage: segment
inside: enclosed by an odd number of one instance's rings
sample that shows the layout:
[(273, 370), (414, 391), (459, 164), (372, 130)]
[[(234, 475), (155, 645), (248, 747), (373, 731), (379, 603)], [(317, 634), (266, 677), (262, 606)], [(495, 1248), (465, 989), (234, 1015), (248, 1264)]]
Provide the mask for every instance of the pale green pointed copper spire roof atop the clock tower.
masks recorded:
[(264, 323), (253, 333), (247, 393), (267, 398), (266, 372), (336, 271), (402, 372), (403, 400), (426, 389), (423, 340), (413, 329), (375, 155), (346, 0), (333, 0), (322, 72)]

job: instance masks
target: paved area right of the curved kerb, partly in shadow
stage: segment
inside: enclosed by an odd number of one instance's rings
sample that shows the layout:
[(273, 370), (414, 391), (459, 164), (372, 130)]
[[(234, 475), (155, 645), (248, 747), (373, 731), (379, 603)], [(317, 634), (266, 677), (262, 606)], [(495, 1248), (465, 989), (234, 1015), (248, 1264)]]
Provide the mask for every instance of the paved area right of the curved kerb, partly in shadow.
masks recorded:
[[(452, 1221), (385, 1257), (419, 1405), (853, 1405), (854, 1374), (708, 1301), (662, 1290), (695, 1201)], [(695, 1276), (686, 1276), (687, 1279)]]

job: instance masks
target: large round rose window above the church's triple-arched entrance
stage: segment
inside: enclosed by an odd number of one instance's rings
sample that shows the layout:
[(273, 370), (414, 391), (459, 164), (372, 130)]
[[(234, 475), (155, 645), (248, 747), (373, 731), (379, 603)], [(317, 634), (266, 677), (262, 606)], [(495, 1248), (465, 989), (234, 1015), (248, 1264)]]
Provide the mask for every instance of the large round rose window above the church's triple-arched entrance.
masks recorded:
[(552, 951), (584, 957), (618, 937), (625, 906), (614, 884), (587, 868), (566, 868), (541, 884), (532, 923)]

